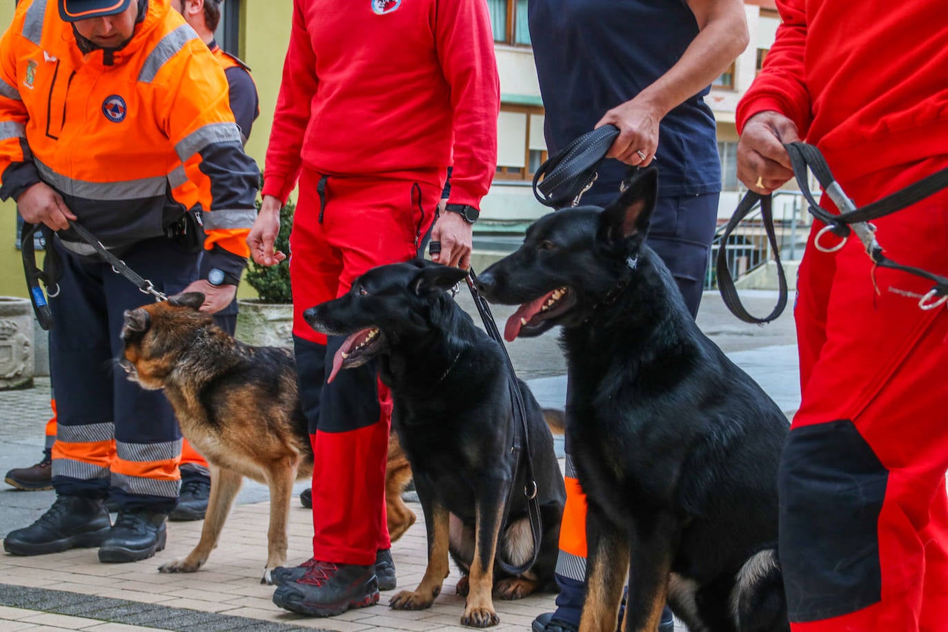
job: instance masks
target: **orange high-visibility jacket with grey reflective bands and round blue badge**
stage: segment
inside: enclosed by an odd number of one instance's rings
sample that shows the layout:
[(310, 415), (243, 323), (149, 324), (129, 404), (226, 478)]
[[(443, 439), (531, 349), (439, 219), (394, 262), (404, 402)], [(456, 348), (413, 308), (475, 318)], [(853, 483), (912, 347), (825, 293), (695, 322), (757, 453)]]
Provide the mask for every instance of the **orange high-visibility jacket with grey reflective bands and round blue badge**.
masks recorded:
[(0, 42), (0, 197), (41, 180), (110, 248), (163, 235), (190, 180), (205, 248), (246, 259), (259, 171), (223, 69), (169, 0), (148, 3), (121, 49), (87, 54), (55, 0), (19, 3)]

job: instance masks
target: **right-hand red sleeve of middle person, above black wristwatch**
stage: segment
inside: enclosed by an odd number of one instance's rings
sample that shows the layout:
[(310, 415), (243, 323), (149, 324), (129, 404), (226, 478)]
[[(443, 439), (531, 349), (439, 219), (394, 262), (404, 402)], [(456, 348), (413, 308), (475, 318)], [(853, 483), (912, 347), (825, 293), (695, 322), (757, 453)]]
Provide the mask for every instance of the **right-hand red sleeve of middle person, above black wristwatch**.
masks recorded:
[(487, 3), (439, 0), (435, 38), (454, 109), (450, 200), (479, 207), (497, 171), (497, 117), (501, 110), (501, 83)]

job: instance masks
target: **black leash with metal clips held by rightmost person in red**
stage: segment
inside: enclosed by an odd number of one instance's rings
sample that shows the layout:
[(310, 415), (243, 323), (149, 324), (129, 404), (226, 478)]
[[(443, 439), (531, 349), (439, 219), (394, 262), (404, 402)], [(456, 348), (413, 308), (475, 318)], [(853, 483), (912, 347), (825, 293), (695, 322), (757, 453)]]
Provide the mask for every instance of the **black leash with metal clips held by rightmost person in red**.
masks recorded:
[[(918, 267), (902, 265), (886, 257), (883, 247), (875, 239), (876, 227), (868, 223), (870, 220), (890, 215), (898, 210), (902, 210), (902, 208), (911, 206), (929, 195), (948, 187), (948, 169), (935, 172), (863, 208), (856, 208), (855, 203), (849, 199), (842, 187), (839, 186), (839, 183), (836, 182), (832, 172), (830, 172), (830, 166), (827, 164), (823, 154), (820, 153), (816, 147), (800, 142), (789, 143), (784, 145), (784, 147), (790, 155), (793, 175), (796, 178), (800, 191), (807, 200), (811, 215), (827, 225), (816, 234), (814, 239), (814, 246), (818, 250), (822, 252), (835, 252), (846, 244), (851, 233), (855, 233), (866, 248), (866, 255), (875, 265), (893, 270), (901, 270), (902, 272), (934, 281), (935, 285), (932, 289), (919, 300), (919, 307), (921, 309), (935, 309), (948, 302), (948, 278), (941, 277), (933, 272)], [(836, 205), (836, 208), (839, 208), (840, 212), (838, 214), (830, 213), (826, 209), (821, 208), (819, 203), (813, 198), (807, 183), (808, 170), (813, 172), (820, 186), (830, 197), (830, 200)], [(727, 269), (727, 256), (725, 252), (727, 238), (730, 236), (731, 231), (734, 230), (740, 220), (754, 208), (757, 204), (757, 200), (760, 201), (761, 216), (764, 220), (764, 227), (767, 230), (767, 238), (770, 240), (774, 250), (774, 258), (777, 263), (777, 272), (780, 280), (780, 296), (777, 300), (777, 306), (770, 316), (764, 318), (751, 316), (744, 309), (743, 305), (741, 305), (737, 290), (734, 287), (734, 281), (731, 278), (730, 271)], [(728, 222), (724, 234), (721, 236), (720, 243), (722, 247), (720, 247), (718, 251), (717, 262), (718, 288), (721, 298), (724, 300), (724, 304), (731, 310), (731, 313), (745, 322), (758, 324), (770, 322), (783, 312), (787, 304), (787, 282), (784, 278), (783, 266), (780, 263), (780, 256), (776, 246), (771, 200), (770, 195), (761, 196), (754, 191), (748, 191), (740, 201), (738, 209), (735, 211), (731, 221)], [(820, 243), (820, 239), (828, 232), (841, 237), (842, 241), (830, 247), (823, 246)]]

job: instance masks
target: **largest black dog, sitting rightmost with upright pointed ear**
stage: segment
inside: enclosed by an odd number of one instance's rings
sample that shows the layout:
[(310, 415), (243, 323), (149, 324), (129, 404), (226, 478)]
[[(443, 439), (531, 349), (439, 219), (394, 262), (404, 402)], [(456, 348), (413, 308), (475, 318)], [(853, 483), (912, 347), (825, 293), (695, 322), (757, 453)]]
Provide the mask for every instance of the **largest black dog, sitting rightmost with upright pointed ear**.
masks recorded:
[(698, 329), (644, 243), (658, 179), (605, 210), (540, 218), (478, 282), (521, 304), (505, 337), (562, 325), (566, 433), (589, 503), (581, 630), (653, 631), (665, 601), (692, 632), (789, 630), (776, 558), (789, 425)]

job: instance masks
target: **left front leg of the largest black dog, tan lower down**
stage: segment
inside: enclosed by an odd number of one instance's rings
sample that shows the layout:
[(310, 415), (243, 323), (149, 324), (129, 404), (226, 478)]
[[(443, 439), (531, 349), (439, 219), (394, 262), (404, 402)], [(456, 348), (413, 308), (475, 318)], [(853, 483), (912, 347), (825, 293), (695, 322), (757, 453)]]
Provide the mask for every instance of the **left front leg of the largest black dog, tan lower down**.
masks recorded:
[(586, 601), (579, 632), (614, 632), (629, 569), (629, 541), (625, 533), (599, 519), (592, 506), (586, 516), (586, 533)]

